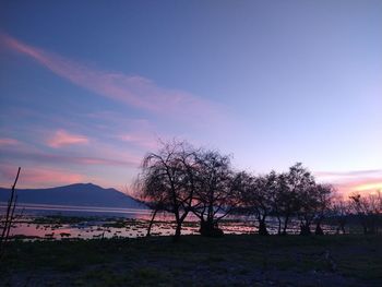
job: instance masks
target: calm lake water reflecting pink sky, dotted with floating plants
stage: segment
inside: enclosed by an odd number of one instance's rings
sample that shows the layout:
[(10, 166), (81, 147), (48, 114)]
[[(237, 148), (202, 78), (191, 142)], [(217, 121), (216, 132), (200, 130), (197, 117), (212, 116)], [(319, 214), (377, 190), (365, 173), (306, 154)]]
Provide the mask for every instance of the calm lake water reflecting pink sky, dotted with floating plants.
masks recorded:
[[(95, 206), (63, 206), (46, 204), (20, 204), (16, 213), (20, 215), (14, 224), (11, 236), (36, 237), (40, 239), (63, 238), (136, 238), (146, 235), (152, 212), (150, 210), (108, 208)], [(4, 214), (5, 205), (0, 205)], [(83, 219), (75, 223), (44, 223), (41, 218), (49, 216), (81, 216)], [(225, 234), (254, 234), (255, 222), (249, 217), (228, 217), (219, 224)], [(268, 231), (276, 234), (276, 222), (270, 219)], [(323, 226), (327, 234), (335, 232), (335, 228)], [(182, 227), (183, 235), (198, 235), (199, 224), (195, 216), (190, 215)], [(175, 231), (174, 217), (158, 213), (156, 223), (152, 227), (153, 236), (171, 236)], [(289, 234), (298, 234), (299, 225), (294, 223)]]

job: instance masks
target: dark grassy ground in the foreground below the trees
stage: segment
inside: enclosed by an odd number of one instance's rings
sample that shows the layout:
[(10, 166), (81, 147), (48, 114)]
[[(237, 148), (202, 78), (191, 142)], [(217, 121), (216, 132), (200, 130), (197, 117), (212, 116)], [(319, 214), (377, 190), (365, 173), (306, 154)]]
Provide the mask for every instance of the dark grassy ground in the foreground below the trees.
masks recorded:
[(3, 286), (381, 286), (381, 236), (11, 242)]

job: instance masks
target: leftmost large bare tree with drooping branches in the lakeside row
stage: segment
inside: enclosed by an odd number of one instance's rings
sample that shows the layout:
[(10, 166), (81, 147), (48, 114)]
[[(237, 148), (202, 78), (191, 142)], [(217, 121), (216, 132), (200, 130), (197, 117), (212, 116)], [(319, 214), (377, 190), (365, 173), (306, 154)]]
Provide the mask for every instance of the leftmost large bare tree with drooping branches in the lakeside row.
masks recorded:
[(164, 144), (158, 153), (144, 157), (138, 179), (141, 196), (152, 202), (155, 211), (174, 214), (175, 240), (179, 239), (182, 223), (192, 210), (195, 186), (188, 169), (195, 163), (195, 151), (191, 145), (172, 141)]

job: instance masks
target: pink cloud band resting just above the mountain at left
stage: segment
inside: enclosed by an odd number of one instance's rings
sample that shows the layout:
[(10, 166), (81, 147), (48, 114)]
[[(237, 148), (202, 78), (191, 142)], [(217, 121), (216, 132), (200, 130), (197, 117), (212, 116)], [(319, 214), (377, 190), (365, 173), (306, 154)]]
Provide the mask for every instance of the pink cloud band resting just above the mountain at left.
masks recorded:
[[(0, 184), (10, 187), (14, 180), (16, 167), (0, 166)], [(47, 169), (41, 167), (24, 167), (21, 170), (17, 188), (41, 188), (55, 187), (59, 184), (71, 184), (84, 182), (86, 178), (83, 175), (62, 170)]]

